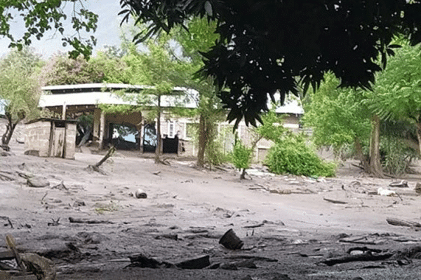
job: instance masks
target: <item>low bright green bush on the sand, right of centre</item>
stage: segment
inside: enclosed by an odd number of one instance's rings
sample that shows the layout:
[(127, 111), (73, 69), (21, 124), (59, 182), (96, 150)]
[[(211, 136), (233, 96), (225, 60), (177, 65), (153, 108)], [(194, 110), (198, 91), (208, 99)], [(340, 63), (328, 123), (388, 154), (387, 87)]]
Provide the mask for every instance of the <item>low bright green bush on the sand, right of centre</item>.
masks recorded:
[(335, 176), (335, 164), (325, 162), (300, 136), (290, 135), (269, 149), (265, 164), (275, 174)]

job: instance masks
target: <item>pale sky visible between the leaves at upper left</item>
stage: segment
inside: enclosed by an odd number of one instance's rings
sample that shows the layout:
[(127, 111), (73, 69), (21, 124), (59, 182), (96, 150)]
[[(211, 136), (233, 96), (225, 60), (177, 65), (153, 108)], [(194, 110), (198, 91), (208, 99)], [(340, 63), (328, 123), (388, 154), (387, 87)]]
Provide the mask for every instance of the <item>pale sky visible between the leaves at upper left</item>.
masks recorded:
[[(121, 34), (121, 16), (118, 15), (120, 8), (119, 0), (86, 0), (83, 1), (83, 5), (88, 10), (98, 14), (98, 29), (95, 31), (95, 38), (97, 38), (97, 45), (93, 52), (100, 50), (104, 45), (120, 45), (120, 34)], [(72, 6), (67, 3), (66, 11), (71, 10)], [(16, 17), (18, 18), (18, 17)], [(69, 17), (68, 17), (69, 18)], [(12, 34), (15, 38), (18, 38), (19, 34), (22, 34), (25, 30), (22, 22), (14, 22), (12, 25)], [(65, 34), (72, 34), (72, 26), (70, 24), (65, 25)], [(88, 34), (89, 36), (89, 34)], [(53, 31), (48, 31), (41, 38), (40, 41), (33, 38), (31, 47), (35, 49), (36, 53), (43, 55), (44, 58), (51, 57), (56, 52), (67, 52), (72, 50), (71, 47), (63, 47), (61, 34), (54, 36)], [(0, 56), (5, 55), (9, 49), (8, 44), (10, 41), (8, 38), (0, 37)]]

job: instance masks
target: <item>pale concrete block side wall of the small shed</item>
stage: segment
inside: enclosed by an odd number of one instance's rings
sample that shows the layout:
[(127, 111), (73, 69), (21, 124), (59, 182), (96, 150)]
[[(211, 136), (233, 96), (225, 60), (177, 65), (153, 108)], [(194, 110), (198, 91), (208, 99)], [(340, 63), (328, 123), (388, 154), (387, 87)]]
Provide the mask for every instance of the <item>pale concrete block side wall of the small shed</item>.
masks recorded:
[(40, 157), (48, 157), (51, 123), (39, 121), (29, 123), (25, 130), (25, 151), (38, 151)]

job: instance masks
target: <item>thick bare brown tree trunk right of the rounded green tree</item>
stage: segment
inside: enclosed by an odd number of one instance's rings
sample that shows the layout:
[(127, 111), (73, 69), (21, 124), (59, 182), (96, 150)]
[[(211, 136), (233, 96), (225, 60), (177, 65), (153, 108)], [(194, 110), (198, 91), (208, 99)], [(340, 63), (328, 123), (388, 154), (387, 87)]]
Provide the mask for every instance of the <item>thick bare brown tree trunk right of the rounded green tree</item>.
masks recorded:
[(384, 176), (380, 164), (380, 118), (377, 115), (371, 117), (370, 173), (377, 177)]

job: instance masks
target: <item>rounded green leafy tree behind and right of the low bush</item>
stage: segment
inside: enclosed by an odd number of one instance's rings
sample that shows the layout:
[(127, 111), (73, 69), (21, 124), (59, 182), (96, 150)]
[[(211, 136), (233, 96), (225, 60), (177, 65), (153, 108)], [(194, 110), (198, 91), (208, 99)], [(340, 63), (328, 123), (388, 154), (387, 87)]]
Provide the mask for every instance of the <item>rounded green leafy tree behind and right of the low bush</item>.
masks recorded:
[(353, 144), (363, 169), (370, 172), (370, 160), (363, 154), (362, 146), (368, 142), (371, 131), (364, 93), (338, 88), (339, 83), (333, 73), (325, 75), (319, 89), (307, 97), (302, 121), (312, 127), (316, 146), (333, 146), (338, 153), (343, 146)]

